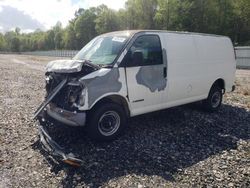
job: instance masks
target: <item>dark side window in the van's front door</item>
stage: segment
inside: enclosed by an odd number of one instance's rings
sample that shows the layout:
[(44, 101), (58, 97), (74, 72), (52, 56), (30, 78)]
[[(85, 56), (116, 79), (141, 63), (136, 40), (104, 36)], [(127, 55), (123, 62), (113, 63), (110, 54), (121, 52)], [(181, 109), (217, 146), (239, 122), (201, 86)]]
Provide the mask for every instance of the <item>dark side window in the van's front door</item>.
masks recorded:
[(163, 63), (160, 38), (157, 35), (138, 37), (125, 57), (126, 66), (147, 66)]

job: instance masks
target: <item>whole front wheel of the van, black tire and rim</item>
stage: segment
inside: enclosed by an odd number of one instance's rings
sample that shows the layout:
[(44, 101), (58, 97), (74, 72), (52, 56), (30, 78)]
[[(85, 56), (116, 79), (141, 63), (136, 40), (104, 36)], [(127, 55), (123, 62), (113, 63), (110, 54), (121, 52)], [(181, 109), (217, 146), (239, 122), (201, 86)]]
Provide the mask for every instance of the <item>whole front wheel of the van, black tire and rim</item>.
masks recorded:
[(126, 116), (123, 108), (115, 103), (101, 103), (88, 114), (87, 133), (96, 141), (111, 141), (125, 128)]

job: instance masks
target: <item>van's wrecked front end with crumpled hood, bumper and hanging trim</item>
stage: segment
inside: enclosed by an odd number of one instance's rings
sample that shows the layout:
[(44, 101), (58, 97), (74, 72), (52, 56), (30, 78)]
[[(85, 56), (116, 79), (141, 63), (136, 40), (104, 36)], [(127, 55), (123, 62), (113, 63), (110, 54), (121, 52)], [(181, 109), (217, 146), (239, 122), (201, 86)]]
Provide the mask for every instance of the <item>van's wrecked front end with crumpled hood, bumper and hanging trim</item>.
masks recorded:
[(46, 96), (34, 119), (39, 121), (40, 141), (45, 150), (73, 166), (80, 166), (82, 160), (63, 151), (49, 136), (46, 122), (51, 118), (69, 126), (85, 125), (86, 113), (79, 107), (85, 103), (86, 88), (79, 79), (98, 69), (90, 62), (78, 60), (52, 61), (46, 67)]

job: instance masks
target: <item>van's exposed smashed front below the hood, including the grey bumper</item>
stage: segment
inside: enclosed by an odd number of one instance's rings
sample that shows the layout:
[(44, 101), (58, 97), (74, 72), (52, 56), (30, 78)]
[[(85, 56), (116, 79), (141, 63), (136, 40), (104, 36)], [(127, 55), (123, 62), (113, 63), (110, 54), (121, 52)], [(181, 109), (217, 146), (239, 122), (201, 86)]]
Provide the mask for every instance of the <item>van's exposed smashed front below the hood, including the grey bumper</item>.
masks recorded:
[[(78, 110), (78, 107), (83, 106), (85, 102), (85, 86), (78, 81), (78, 77), (80, 76), (58, 76), (55, 73), (46, 74), (46, 99), (49, 99), (46, 113), (50, 117), (66, 125), (84, 126), (86, 119), (85, 112)], [(53, 91), (54, 88), (61, 84), (63, 84), (62, 87)], [(54, 93), (55, 95), (53, 95)], [(53, 98), (50, 100), (51, 94)]]

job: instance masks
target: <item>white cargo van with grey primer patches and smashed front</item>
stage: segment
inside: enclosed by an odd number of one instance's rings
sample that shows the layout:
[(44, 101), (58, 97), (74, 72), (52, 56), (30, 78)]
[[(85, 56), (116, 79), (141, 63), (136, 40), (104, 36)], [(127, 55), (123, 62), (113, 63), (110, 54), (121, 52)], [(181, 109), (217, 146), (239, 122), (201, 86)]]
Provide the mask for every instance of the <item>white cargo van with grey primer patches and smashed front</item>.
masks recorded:
[(111, 140), (128, 117), (195, 101), (216, 111), (223, 94), (234, 90), (235, 69), (228, 37), (150, 30), (107, 33), (72, 60), (48, 63), (47, 96), (35, 116), (86, 126), (90, 137)]

